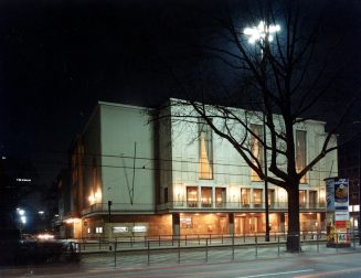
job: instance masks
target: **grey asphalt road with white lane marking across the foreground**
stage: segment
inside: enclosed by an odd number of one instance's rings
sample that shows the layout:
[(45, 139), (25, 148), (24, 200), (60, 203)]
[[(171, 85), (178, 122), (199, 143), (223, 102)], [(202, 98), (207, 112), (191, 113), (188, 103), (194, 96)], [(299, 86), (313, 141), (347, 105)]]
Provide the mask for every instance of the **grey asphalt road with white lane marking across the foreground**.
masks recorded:
[(26, 268), (22, 271), (1, 272), (0, 277), (214, 277), (214, 278), (262, 278), (262, 277), (361, 277), (361, 253), (344, 254), (297, 254), (290, 257), (252, 259), (233, 263), (209, 263), (198, 265), (102, 267), (78, 268), (59, 266), (54, 268)]

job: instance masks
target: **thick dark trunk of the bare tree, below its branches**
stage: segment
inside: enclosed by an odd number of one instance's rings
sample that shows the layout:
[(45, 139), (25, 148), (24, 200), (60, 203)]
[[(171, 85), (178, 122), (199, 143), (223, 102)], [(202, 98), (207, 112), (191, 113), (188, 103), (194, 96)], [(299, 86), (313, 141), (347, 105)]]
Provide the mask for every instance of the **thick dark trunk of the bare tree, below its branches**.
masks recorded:
[(289, 184), (287, 252), (300, 252), (299, 234), (299, 183)]

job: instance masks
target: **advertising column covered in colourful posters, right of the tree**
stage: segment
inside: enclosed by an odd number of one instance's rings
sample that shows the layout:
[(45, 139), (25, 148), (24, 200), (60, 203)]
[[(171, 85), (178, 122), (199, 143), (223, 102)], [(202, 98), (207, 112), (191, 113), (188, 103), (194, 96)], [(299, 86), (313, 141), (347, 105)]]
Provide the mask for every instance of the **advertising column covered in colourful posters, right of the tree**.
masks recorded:
[(327, 191), (327, 246), (349, 247), (349, 180), (326, 180)]

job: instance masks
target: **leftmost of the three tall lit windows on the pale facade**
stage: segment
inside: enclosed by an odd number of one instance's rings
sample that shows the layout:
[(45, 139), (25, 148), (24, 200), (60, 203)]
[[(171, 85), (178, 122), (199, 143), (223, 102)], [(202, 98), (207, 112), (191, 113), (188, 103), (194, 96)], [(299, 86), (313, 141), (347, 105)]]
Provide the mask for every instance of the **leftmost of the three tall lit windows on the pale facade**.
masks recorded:
[(199, 120), (199, 178), (202, 180), (213, 179), (213, 149), (212, 129), (203, 120)]

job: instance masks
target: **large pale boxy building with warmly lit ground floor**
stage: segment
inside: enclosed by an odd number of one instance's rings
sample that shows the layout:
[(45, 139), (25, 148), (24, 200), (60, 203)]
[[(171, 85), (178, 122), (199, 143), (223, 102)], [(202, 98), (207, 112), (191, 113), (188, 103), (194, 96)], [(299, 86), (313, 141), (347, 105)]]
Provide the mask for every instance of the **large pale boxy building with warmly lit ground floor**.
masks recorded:
[[(264, 182), (203, 120), (188, 121), (190, 114), (98, 103), (71, 151), (72, 206), (61, 217), (74, 237), (264, 233)], [(259, 117), (249, 122), (261, 135)], [(295, 131), (302, 167), (320, 151), (325, 122), (306, 120)], [(263, 152), (255, 138), (249, 143)], [(323, 180), (336, 175), (331, 152), (302, 179), (302, 231), (325, 229)], [(267, 194), (270, 232), (285, 232), (287, 194), (272, 184)]]

